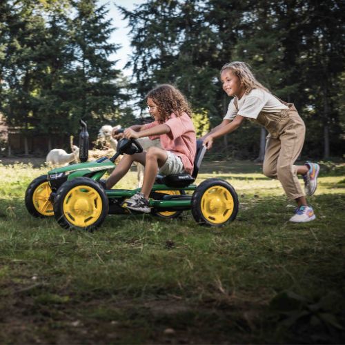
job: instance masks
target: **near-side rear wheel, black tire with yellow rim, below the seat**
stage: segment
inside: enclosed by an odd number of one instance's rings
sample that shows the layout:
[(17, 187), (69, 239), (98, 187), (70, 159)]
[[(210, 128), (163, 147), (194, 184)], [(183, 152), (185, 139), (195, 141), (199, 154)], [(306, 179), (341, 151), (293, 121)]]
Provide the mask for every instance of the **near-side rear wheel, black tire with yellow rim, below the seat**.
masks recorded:
[(206, 226), (224, 226), (236, 218), (239, 208), (237, 193), (223, 179), (206, 179), (195, 189), (192, 215)]

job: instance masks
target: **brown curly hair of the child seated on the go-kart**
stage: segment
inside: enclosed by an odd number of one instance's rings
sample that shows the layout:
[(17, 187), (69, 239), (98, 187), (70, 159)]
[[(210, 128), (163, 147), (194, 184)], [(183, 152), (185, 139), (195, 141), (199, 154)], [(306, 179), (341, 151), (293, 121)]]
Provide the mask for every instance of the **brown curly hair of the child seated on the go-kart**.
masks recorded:
[(162, 84), (150, 90), (146, 99), (152, 99), (159, 111), (159, 122), (163, 123), (170, 118), (172, 112), (177, 116), (182, 116), (183, 112), (192, 117), (192, 110), (188, 101), (181, 91), (170, 84)]

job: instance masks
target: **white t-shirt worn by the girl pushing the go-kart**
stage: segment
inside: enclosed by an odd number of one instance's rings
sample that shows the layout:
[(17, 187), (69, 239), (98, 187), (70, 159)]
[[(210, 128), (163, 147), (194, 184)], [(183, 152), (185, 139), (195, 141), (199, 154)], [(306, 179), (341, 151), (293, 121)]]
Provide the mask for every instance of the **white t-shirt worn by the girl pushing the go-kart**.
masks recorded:
[(237, 99), (238, 112), (235, 108), (234, 100), (231, 99), (228, 111), (224, 116), (224, 120), (233, 120), (236, 115), (249, 117), (250, 119), (257, 119), (259, 113), (264, 112), (279, 112), (280, 110), (288, 109), (288, 106), (283, 104), (269, 92), (262, 89), (253, 89), (248, 95), (243, 95), (241, 99)]

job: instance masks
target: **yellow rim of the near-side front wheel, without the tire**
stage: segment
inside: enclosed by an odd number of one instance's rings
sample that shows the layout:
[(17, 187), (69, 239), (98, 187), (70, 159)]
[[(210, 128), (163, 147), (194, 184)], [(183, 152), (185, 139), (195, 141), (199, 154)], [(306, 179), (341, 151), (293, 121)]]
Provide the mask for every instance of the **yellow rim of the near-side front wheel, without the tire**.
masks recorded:
[(84, 228), (95, 224), (101, 215), (101, 196), (90, 186), (72, 188), (63, 199), (63, 214), (70, 224)]

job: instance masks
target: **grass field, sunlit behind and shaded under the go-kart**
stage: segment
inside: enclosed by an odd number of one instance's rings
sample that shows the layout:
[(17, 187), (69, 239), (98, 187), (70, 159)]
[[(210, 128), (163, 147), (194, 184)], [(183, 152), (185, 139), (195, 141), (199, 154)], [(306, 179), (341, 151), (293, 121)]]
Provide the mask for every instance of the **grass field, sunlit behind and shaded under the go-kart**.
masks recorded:
[[(0, 164), (1, 344), (345, 342), (344, 168), (319, 178), (308, 224), (288, 222), (292, 203), (259, 165), (212, 162), (198, 182), (235, 187), (232, 224), (111, 215), (94, 233), (28, 214), (44, 173)], [(119, 187), (134, 184), (130, 172)]]

